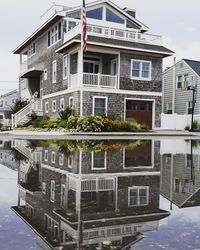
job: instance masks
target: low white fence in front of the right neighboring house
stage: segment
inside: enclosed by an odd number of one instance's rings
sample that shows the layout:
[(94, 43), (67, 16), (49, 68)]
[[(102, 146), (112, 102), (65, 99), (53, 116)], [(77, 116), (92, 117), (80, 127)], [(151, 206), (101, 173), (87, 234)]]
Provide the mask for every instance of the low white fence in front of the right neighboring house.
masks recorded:
[[(161, 129), (184, 130), (191, 126), (191, 115), (161, 114)], [(200, 115), (194, 115), (194, 121), (200, 122)]]

